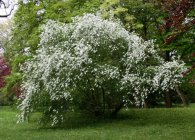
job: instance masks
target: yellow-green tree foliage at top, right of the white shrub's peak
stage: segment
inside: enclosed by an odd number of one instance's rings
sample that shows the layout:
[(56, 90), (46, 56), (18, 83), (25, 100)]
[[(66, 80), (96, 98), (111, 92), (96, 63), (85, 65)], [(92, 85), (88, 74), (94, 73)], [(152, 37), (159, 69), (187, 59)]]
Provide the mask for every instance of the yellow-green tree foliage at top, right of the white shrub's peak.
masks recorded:
[(123, 22), (127, 30), (139, 33), (143, 39), (157, 38), (163, 13), (154, 1), (105, 0), (100, 8), (105, 17), (113, 14)]

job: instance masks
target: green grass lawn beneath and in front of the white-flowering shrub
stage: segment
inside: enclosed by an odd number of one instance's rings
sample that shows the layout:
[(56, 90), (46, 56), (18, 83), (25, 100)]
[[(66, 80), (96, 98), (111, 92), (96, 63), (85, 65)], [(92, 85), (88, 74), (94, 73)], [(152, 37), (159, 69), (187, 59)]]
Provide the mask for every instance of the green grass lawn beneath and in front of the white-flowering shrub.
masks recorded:
[(16, 124), (16, 114), (10, 107), (0, 107), (0, 140), (195, 139), (195, 106), (129, 109), (122, 111), (118, 119), (88, 123), (70, 119), (63, 129), (43, 129), (33, 121)]

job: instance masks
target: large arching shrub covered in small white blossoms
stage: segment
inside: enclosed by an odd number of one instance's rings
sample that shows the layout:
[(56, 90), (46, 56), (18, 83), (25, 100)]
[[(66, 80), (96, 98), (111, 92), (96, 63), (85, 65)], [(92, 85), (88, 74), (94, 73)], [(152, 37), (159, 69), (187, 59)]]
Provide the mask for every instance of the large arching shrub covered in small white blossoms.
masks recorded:
[(21, 67), (19, 121), (40, 106), (52, 125), (75, 106), (95, 115), (117, 113), (130, 96), (142, 104), (149, 93), (173, 88), (185, 69), (183, 62), (164, 62), (152, 41), (98, 15), (70, 24), (49, 20), (42, 29), (37, 54)]

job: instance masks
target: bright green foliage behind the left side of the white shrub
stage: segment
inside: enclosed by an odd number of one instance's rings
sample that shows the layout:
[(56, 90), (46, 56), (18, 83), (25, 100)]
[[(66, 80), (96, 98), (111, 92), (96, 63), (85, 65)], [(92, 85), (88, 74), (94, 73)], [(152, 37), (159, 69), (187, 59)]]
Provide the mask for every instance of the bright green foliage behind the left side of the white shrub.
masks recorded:
[[(7, 78), (6, 94), (20, 85), (22, 73), (19, 66), (38, 49), (41, 26), (48, 20), (70, 22), (72, 16), (96, 11), (101, 0), (28, 0), (19, 1), (14, 16), (13, 30), (5, 47), (5, 57), (10, 62), (12, 73)], [(29, 54), (27, 54), (29, 52)]]

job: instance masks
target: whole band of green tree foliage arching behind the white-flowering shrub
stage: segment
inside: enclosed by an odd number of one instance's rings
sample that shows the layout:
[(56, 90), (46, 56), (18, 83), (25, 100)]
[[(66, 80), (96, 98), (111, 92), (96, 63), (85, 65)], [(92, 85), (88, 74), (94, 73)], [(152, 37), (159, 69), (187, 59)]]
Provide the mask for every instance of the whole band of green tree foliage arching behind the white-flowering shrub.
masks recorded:
[[(193, 30), (181, 36), (178, 39), (179, 42), (171, 44), (171, 47), (163, 47), (163, 38), (167, 36), (167, 33), (160, 33), (158, 29), (164, 23), (163, 18), (167, 15), (165, 6), (165, 3), (162, 4), (158, 0), (20, 1), (14, 19), (11, 40), (5, 46), (5, 56), (11, 63), (12, 74), (7, 78), (8, 85), (6, 85), (3, 92), (11, 94), (12, 87), (20, 85), (23, 74), (19, 71), (19, 66), (29, 57), (31, 58), (31, 55), (36, 54), (36, 50), (39, 48), (41, 26), (48, 19), (70, 23), (74, 16), (96, 12), (99, 9), (103, 11), (102, 14), (106, 18), (109, 18), (110, 13), (114, 14), (114, 18), (120, 19), (128, 31), (139, 33), (144, 40), (155, 39), (155, 44), (160, 44), (159, 46), (163, 48), (161, 49), (163, 51), (167, 49), (171, 51), (173, 50), (173, 46), (174, 49), (177, 47), (178, 52), (183, 58), (181, 52), (190, 53), (192, 51), (194, 44)], [(161, 10), (162, 8), (164, 11)], [(185, 57), (185, 61), (186, 59), (187, 57)]]

